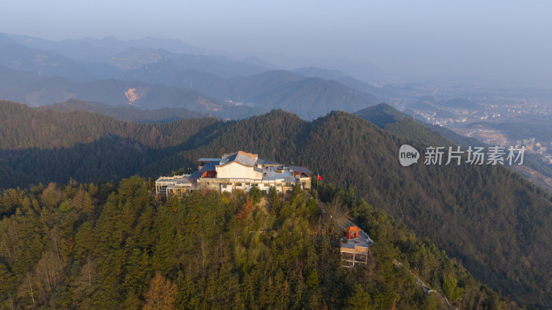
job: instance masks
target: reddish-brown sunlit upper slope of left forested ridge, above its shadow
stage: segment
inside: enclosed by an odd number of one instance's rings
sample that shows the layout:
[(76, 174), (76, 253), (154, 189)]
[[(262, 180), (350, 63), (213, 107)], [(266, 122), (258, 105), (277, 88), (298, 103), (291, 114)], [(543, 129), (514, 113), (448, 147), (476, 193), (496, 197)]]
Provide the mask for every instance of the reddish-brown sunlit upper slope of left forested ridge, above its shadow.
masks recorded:
[(117, 136), (148, 147), (174, 147), (203, 127), (220, 123), (216, 118), (186, 119), (167, 124), (128, 123), (100, 114), (35, 110), (0, 101), (1, 149), (69, 148), (103, 136)]

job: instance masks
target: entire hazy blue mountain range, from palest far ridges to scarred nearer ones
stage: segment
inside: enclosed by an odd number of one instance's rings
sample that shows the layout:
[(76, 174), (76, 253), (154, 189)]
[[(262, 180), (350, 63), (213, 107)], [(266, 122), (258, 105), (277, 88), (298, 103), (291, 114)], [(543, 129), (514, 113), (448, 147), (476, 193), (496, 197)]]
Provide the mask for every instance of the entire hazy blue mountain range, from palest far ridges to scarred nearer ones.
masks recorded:
[(338, 70), (269, 70), (276, 66), (257, 56), (233, 60), (186, 54), (205, 51), (178, 40), (106, 37), (56, 42), (0, 34), (0, 46), (0, 65), (6, 67), (0, 72), (12, 79), (0, 86), (0, 99), (31, 106), (74, 98), (145, 109), (184, 107), (220, 118), (273, 108), (315, 118), (331, 110), (354, 112), (373, 105), (379, 99), (369, 92), (381, 90)]

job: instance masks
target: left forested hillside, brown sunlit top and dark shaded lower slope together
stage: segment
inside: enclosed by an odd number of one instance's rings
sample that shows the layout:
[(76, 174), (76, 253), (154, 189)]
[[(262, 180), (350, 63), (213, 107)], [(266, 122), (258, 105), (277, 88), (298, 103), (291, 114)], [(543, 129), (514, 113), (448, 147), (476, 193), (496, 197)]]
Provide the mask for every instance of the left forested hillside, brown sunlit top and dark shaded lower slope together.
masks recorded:
[(90, 112), (34, 110), (5, 101), (0, 101), (0, 121), (0, 187), (66, 183), (70, 178), (119, 180), (186, 149), (198, 132), (215, 130), (219, 123), (215, 118), (126, 123)]

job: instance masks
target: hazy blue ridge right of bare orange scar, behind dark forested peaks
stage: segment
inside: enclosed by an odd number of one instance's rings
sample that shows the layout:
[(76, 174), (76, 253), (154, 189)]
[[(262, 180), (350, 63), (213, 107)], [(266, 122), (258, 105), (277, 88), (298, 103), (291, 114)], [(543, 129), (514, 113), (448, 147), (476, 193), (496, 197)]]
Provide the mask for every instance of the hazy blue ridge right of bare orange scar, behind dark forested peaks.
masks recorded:
[(185, 70), (172, 76), (156, 73), (153, 79), (152, 74), (149, 76), (150, 79), (143, 74), (138, 79), (150, 83), (155, 83), (155, 79), (159, 79), (157, 83), (193, 87), (225, 101), (269, 110), (281, 108), (295, 112), (303, 118), (315, 118), (331, 110), (354, 112), (379, 102), (375, 96), (337, 81), (305, 77), (285, 70), (231, 79), (222, 79), (197, 70)]

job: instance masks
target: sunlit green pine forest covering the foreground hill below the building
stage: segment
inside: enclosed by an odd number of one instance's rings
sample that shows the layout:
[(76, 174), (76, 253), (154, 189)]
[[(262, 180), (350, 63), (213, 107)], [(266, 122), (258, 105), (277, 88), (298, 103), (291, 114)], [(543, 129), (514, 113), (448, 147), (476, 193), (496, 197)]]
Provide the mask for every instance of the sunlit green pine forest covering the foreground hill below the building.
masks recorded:
[[(320, 200), (299, 187), (285, 199), (275, 190), (156, 198), (151, 187), (132, 177), (4, 190), (1, 307), (519, 307), (352, 190), (322, 184)], [(356, 269), (339, 267), (346, 217), (375, 240)]]

